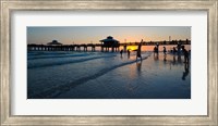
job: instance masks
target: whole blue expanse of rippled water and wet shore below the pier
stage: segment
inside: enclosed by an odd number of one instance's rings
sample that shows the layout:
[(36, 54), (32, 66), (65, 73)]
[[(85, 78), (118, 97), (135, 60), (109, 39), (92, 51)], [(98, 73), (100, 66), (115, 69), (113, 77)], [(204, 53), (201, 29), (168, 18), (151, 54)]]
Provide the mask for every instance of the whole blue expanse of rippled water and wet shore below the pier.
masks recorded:
[(152, 51), (27, 53), (28, 99), (191, 99), (191, 63)]

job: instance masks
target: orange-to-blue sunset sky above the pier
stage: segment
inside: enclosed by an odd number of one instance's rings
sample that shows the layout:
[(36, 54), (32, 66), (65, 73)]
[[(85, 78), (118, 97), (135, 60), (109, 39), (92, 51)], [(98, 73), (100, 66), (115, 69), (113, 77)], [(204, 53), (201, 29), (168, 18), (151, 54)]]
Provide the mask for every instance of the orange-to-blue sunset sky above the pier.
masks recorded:
[(120, 42), (191, 39), (191, 27), (186, 26), (68, 26), (27, 27), (27, 43), (44, 43), (58, 40), (63, 45), (99, 43), (112, 36)]

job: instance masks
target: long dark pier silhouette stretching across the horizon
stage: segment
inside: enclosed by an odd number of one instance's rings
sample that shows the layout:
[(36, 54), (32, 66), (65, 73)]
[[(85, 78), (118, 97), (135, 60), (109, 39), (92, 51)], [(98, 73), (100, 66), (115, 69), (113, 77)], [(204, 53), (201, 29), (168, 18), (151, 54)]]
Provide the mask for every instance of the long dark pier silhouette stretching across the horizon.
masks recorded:
[[(155, 45), (191, 45), (191, 40), (171, 40), (171, 41), (143, 41), (142, 46), (155, 46)], [(27, 45), (28, 51), (96, 51), (99, 47), (102, 52), (118, 52), (120, 47), (123, 47), (123, 51), (126, 52), (128, 46), (138, 46), (140, 42), (123, 42), (117, 45), (102, 45), (102, 43), (82, 43), (82, 45)]]

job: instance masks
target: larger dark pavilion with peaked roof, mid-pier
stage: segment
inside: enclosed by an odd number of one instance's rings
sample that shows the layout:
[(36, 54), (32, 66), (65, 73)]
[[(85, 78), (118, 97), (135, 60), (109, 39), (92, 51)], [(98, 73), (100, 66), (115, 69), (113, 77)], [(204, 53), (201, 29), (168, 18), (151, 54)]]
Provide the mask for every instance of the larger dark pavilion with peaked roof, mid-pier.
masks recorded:
[(100, 40), (101, 42), (101, 51), (104, 51), (104, 49), (106, 49), (106, 51), (109, 51), (109, 49), (111, 48), (111, 51), (119, 51), (119, 47), (120, 47), (120, 41), (113, 39), (112, 36), (108, 36), (106, 39)]

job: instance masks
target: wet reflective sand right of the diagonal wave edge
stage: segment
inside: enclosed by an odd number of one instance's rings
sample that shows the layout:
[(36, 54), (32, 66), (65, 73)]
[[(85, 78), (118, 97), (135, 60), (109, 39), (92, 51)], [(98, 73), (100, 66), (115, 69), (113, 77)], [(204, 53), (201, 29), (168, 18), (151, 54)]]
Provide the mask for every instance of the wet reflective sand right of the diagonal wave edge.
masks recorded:
[(112, 70), (58, 98), (190, 99), (191, 67), (183, 61), (183, 56), (167, 54), (165, 58), (162, 53), (152, 53), (142, 62)]

